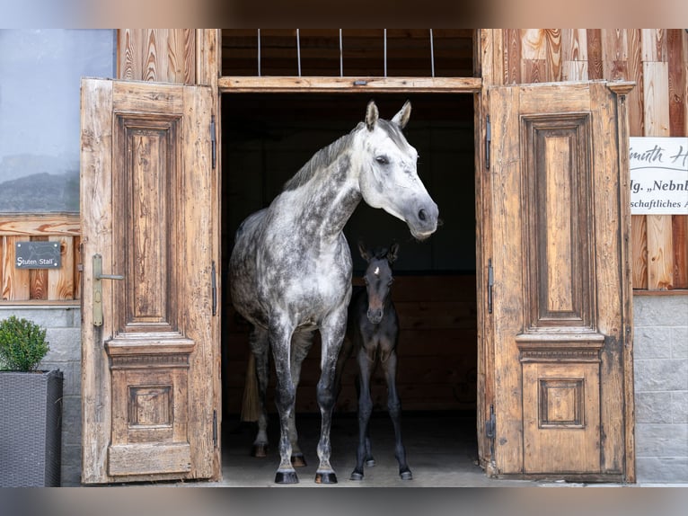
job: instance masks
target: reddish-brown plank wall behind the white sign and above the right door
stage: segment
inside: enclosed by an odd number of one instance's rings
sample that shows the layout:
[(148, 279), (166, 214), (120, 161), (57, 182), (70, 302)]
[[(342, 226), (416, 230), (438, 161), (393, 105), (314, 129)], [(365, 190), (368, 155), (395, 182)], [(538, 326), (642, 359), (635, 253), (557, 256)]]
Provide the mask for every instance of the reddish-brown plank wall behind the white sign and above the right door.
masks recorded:
[[(506, 29), (504, 84), (630, 80), (630, 136), (688, 136), (684, 29)], [(688, 289), (688, 216), (631, 219), (633, 288)]]

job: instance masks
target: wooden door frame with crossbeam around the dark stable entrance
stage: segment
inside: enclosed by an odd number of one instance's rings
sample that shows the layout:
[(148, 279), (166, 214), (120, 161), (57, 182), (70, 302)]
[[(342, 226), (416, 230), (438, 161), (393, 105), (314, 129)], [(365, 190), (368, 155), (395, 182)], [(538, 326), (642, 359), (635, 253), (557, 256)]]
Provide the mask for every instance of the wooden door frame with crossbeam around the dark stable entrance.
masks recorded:
[[(478, 346), (478, 399), (477, 399), (477, 424), (476, 431), (478, 432), (479, 447), (484, 449), (489, 440), (485, 439), (484, 420), (486, 414), (486, 407), (489, 407), (491, 400), (494, 398), (494, 389), (492, 386), (493, 372), (490, 369), (490, 364), (494, 364), (493, 353), (491, 351), (490, 340), (490, 322), (488, 320), (487, 309), (485, 305), (484, 290), (481, 288), (485, 284), (486, 276), (483, 271), (486, 270), (487, 258), (483, 260), (484, 256), (490, 255), (490, 250), (483, 248), (485, 245), (490, 245), (490, 218), (489, 209), (490, 203), (484, 203), (481, 199), (489, 199), (490, 182), (489, 177), (483, 174), (484, 160), (485, 160), (485, 136), (486, 127), (484, 124), (483, 106), (487, 99), (487, 88), (493, 84), (492, 77), (500, 76), (493, 70), (497, 69), (497, 65), (492, 63), (499, 63), (498, 52), (493, 50), (493, 38), (495, 34), (500, 34), (500, 30), (476, 30), (473, 35), (473, 67), (475, 70), (474, 77), (250, 77), (250, 76), (222, 76), (221, 69), (221, 33), (219, 30), (199, 30), (202, 34), (198, 35), (198, 40), (207, 41), (207, 49), (214, 52), (214, 58), (211, 61), (213, 65), (207, 67), (205, 75), (198, 73), (199, 80), (205, 77), (208, 85), (212, 85), (216, 91), (216, 113), (221, 113), (220, 103), (224, 93), (451, 93), (451, 94), (472, 94), (473, 95), (473, 116), (474, 116), (474, 142), (476, 146), (475, 153), (475, 173), (474, 173), (474, 187), (475, 187), (475, 213), (477, 218), (476, 226), (476, 289), (477, 289), (477, 326), (478, 337), (476, 345)], [(202, 52), (198, 50), (198, 59), (200, 60)], [(483, 63), (490, 65), (485, 67)], [(216, 140), (221, 139), (221, 116), (216, 117)], [(221, 153), (217, 154), (217, 168), (216, 171), (221, 171)], [(216, 172), (216, 185), (219, 192), (221, 191), (221, 173)], [(222, 202), (217, 198), (217, 211), (222, 208)], [(487, 216), (487, 217), (486, 217)], [(220, 228), (219, 221), (215, 227)], [(219, 240), (217, 240), (219, 243)], [(219, 245), (218, 245), (219, 253)], [(484, 263), (483, 263), (484, 262)], [(221, 262), (221, 256), (218, 256), (218, 263)], [(219, 285), (219, 297), (222, 299), (222, 288)], [(221, 391), (221, 385), (217, 388)], [(482, 396), (481, 396), (481, 393)], [(491, 396), (491, 397), (490, 397)], [(487, 471), (487, 470), (486, 470)], [(488, 472), (489, 473), (489, 472)]]

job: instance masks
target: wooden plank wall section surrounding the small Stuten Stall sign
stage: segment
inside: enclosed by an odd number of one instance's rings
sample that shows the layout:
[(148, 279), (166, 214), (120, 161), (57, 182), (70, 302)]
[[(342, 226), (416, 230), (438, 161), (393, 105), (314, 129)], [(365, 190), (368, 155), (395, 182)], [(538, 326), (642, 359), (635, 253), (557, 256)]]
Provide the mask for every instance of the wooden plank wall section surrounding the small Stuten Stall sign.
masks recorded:
[[(78, 214), (3, 215), (0, 219), (2, 300), (43, 304), (80, 299), (80, 233)], [(59, 242), (62, 267), (58, 270), (15, 268), (14, 245), (27, 240)]]

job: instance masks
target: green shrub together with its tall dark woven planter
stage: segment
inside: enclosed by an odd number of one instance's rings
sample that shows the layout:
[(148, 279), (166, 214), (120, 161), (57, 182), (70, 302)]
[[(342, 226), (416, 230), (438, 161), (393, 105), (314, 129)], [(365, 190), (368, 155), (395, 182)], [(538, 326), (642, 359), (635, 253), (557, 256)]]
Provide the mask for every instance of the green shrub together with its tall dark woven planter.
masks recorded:
[(60, 485), (62, 372), (39, 370), (46, 330), (0, 321), (0, 487)]

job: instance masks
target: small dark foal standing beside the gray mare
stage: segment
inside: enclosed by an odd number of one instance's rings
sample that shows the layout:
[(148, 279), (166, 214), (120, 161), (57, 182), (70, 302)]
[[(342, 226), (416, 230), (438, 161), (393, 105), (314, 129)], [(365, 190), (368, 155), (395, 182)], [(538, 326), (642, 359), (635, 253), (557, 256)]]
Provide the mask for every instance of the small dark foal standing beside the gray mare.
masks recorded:
[(399, 462), (399, 476), (410, 480), (413, 476), (406, 462), (406, 449), (401, 441), (401, 401), (396, 389), (397, 343), (399, 338), (399, 317), (392, 301), (392, 263), (399, 255), (399, 245), (389, 249), (366, 249), (358, 243), (358, 251), (367, 262), (363, 276), (366, 287), (354, 290), (348, 306), (347, 336), (337, 362), (335, 385), (339, 395), (341, 373), (346, 360), (355, 351), (358, 365), (358, 445), (356, 467), (351, 480), (363, 480), (363, 466), (375, 466), (370, 444), (368, 423), (373, 413), (370, 396), (370, 378), (379, 363), (387, 383), (387, 410), (394, 427), (394, 457)]

